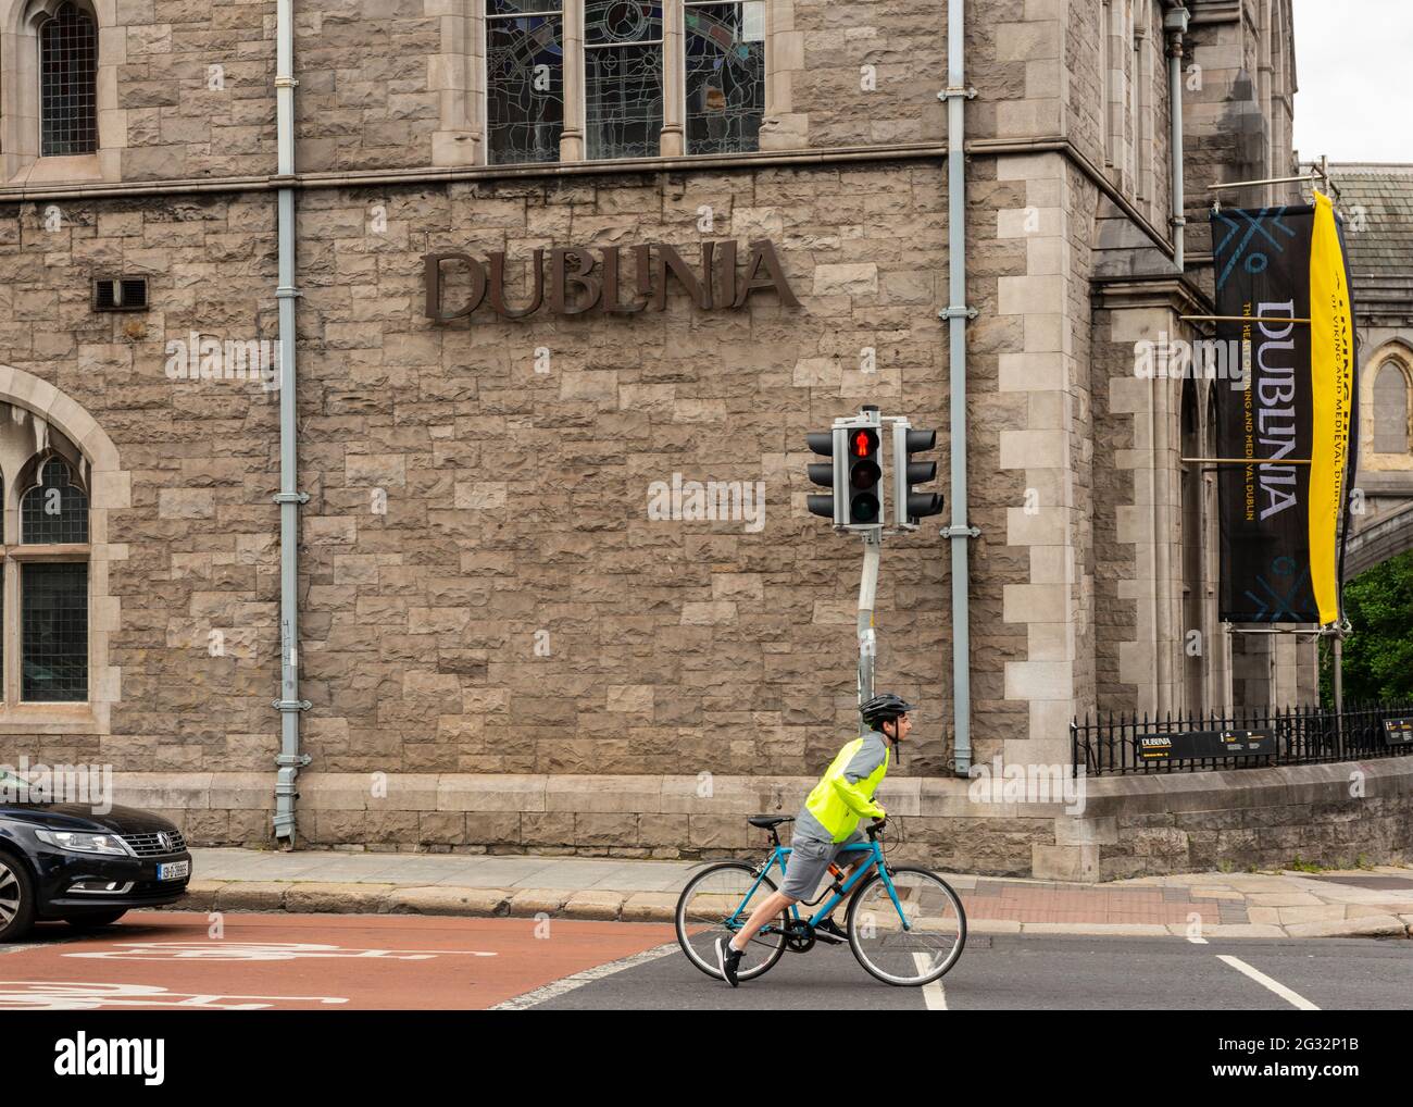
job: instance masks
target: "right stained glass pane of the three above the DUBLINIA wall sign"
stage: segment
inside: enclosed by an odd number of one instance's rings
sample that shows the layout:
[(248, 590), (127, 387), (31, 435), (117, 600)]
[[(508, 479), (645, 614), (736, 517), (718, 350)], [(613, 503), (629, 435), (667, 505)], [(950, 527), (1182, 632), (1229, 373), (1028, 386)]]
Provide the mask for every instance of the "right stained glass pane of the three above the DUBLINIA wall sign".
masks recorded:
[(766, 112), (766, 6), (687, 4), (687, 153), (759, 148)]

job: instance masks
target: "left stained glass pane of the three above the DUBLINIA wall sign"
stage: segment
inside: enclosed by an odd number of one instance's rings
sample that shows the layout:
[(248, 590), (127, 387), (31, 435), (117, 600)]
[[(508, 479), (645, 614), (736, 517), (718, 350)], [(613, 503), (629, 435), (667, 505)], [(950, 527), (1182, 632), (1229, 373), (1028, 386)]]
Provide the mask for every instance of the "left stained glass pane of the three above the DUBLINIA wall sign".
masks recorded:
[(560, 160), (562, 42), (560, 0), (486, 0), (486, 158), (492, 164)]

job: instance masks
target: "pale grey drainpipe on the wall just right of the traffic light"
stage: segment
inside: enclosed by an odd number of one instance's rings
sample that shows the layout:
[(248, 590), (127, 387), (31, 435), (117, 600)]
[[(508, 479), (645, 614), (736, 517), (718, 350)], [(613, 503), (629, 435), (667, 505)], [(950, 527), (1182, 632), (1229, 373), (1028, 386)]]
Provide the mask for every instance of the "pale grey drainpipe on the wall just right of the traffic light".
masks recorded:
[(976, 317), (966, 307), (966, 131), (962, 100), (976, 95), (966, 88), (965, 3), (947, 3), (947, 88), (937, 98), (947, 102), (947, 310), (951, 417), (948, 464), (951, 465), (952, 522), (942, 537), (952, 546), (952, 755), (958, 776), (971, 769), (971, 623), (968, 540), (981, 532), (966, 522), (966, 320)]

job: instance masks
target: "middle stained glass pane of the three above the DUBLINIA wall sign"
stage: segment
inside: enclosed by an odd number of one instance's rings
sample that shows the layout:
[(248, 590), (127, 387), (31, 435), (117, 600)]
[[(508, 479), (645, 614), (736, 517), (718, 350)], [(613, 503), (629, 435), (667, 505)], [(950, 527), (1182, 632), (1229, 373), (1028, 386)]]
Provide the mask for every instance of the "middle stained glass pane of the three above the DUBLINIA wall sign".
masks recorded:
[(588, 157), (656, 157), (661, 131), (663, 6), (643, 0), (585, 0)]

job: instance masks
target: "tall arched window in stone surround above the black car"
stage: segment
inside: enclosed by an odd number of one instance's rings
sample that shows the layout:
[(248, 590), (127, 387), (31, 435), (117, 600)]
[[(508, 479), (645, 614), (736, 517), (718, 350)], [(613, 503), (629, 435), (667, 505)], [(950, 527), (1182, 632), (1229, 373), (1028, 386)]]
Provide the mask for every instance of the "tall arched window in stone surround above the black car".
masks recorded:
[(20, 496), (20, 543), (7, 547), (20, 587), (20, 698), (82, 703), (89, 697), (88, 492), (57, 454), (31, 469), (37, 482)]

